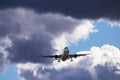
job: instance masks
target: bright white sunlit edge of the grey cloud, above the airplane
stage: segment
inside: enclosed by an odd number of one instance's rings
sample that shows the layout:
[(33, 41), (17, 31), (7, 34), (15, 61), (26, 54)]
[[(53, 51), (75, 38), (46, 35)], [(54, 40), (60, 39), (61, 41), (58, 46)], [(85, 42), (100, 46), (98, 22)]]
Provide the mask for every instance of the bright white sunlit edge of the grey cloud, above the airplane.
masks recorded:
[(53, 46), (59, 51), (70, 43), (76, 43), (81, 39), (87, 39), (90, 33), (97, 32), (92, 21), (81, 20), (71, 32), (64, 32), (61, 36), (53, 40)]

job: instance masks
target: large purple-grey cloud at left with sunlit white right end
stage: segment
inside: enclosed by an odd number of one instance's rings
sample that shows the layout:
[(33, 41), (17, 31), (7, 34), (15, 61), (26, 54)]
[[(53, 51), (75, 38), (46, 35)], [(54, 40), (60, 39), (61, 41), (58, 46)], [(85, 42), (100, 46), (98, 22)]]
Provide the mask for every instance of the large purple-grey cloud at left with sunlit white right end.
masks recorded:
[[(68, 42), (76, 42), (95, 32), (95, 27), (89, 20), (78, 20), (57, 13), (38, 14), (32, 9), (1, 10), (0, 17), (0, 38), (4, 41), (7, 37), (11, 43), (11, 46), (5, 48), (8, 52), (6, 59), (10, 63), (51, 63), (52, 60), (40, 56), (55, 54), (58, 49), (55, 49), (57, 46), (54, 44), (58, 42), (55, 42), (55, 39), (65, 35)], [(64, 41), (61, 45), (64, 45)]]

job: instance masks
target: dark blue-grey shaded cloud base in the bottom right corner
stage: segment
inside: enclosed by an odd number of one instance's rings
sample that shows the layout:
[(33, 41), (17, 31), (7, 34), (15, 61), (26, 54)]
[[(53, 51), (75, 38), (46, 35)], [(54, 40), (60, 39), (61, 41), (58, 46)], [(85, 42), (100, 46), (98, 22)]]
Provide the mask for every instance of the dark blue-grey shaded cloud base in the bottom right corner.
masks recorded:
[(97, 77), (99, 80), (119, 80), (120, 75), (116, 74), (117, 70), (115, 67), (110, 67), (109, 64), (105, 66), (97, 65), (95, 66), (95, 70), (97, 72)]

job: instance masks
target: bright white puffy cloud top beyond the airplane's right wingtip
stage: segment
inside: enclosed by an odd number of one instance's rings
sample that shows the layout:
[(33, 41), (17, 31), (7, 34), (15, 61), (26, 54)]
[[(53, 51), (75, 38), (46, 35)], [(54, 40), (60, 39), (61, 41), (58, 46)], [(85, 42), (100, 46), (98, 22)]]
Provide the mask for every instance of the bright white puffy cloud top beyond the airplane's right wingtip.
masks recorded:
[(118, 57), (120, 55), (120, 50), (114, 46), (104, 45), (101, 48), (92, 47), (91, 51), (93, 53), (93, 58), (94, 58), (93, 66), (98, 64), (104, 66), (106, 62), (108, 63), (112, 62), (112, 66), (113, 66), (113, 64), (116, 64), (116, 62), (118, 62), (117, 60), (120, 59)]

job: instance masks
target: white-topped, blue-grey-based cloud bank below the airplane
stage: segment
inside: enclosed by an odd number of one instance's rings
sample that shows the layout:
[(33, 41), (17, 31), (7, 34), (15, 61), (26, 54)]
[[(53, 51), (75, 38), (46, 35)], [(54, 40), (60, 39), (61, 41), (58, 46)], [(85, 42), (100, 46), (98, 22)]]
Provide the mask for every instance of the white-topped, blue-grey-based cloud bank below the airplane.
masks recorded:
[[(72, 63), (68, 60), (60, 63), (53, 62), (48, 66), (34, 63), (18, 64), (19, 75), (25, 80), (33, 78), (37, 78), (36, 80), (119, 80), (119, 48), (112, 45), (94, 46), (90, 52), (92, 55), (79, 57)], [(78, 53), (85, 53), (85, 51)], [(28, 76), (26, 73), (32, 74), (33, 78), (26, 77)]]

